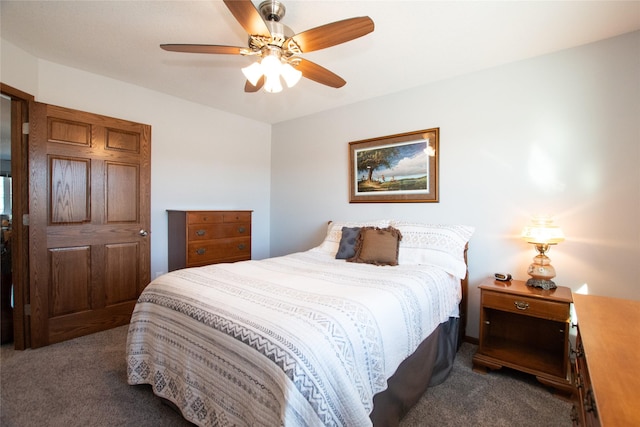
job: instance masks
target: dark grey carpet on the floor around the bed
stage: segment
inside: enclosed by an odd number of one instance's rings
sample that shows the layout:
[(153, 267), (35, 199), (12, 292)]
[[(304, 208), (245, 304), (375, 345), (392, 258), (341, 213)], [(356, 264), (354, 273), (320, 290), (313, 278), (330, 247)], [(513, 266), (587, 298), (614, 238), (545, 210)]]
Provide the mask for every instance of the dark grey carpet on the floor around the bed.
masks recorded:
[[(129, 386), (127, 327), (36, 350), (0, 353), (0, 424), (29, 426), (188, 426), (153, 395)], [(514, 371), (471, 370), (464, 344), (451, 376), (427, 391), (401, 426), (570, 426), (571, 405)]]

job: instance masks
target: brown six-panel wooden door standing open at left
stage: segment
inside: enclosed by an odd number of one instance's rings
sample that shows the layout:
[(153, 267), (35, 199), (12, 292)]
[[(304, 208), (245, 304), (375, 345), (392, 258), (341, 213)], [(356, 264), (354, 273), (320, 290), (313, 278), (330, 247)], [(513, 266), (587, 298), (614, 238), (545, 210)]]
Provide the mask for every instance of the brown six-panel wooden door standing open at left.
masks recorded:
[(31, 346), (124, 325), (150, 279), (151, 127), (30, 103)]

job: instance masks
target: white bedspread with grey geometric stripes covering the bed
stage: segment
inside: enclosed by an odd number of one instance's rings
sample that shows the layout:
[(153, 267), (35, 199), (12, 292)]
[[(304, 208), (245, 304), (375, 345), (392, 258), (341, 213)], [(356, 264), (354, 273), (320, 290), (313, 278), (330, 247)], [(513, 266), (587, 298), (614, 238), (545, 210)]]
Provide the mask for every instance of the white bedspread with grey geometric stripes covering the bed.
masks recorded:
[(128, 381), (203, 426), (369, 426), (374, 394), (459, 300), (434, 267), (316, 250), (178, 270), (138, 300)]

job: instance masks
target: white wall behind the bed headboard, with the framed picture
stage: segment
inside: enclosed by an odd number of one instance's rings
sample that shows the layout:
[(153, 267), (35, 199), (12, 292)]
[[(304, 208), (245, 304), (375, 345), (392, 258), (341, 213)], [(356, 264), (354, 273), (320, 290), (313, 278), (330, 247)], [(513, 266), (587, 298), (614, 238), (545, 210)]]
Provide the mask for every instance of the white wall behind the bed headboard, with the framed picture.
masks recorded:
[[(639, 52), (636, 32), (274, 125), (271, 255), (317, 245), (329, 219), (472, 225), (477, 337), (476, 286), (526, 279), (535, 252), (518, 234), (549, 213), (567, 236), (556, 283), (640, 299)], [(432, 127), (439, 203), (349, 204), (349, 141)]]

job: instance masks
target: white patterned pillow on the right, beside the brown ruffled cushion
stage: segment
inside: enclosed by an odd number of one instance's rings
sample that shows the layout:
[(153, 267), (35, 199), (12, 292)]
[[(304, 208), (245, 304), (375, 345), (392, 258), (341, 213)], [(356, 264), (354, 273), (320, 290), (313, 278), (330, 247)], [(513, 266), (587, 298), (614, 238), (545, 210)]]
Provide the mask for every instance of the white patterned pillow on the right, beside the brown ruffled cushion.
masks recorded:
[(464, 279), (467, 274), (464, 248), (473, 235), (473, 227), (406, 221), (391, 221), (390, 225), (402, 233), (399, 265), (435, 265)]

